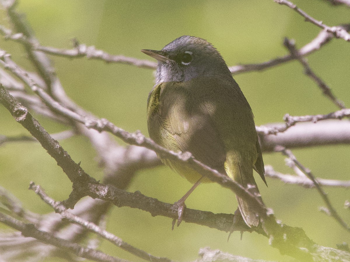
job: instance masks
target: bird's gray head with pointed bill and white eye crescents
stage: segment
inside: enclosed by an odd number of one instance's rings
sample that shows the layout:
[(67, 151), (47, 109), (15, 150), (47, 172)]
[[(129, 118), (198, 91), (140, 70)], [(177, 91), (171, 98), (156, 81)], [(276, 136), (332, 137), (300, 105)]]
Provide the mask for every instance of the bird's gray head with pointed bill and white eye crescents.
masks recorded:
[(221, 54), (206, 40), (181, 36), (161, 51), (141, 50), (158, 60), (156, 83), (188, 81), (197, 77), (230, 78)]

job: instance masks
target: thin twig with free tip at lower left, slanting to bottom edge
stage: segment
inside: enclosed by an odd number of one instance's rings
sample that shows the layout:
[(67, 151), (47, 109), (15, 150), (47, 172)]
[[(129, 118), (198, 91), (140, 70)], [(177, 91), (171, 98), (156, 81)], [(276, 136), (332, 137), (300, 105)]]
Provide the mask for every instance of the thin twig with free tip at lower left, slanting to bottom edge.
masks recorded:
[(89, 222), (89, 221), (86, 221), (78, 216), (73, 215), (72, 213), (68, 212), (67, 209), (60, 202), (56, 202), (56, 201), (54, 201), (54, 199), (50, 198), (44, 192), (44, 190), (39, 185), (35, 185), (34, 182), (30, 183), (29, 189), (35, 191), (35, 193), (38, 196), (40, 196), (40, 198), (45, 203), (50, 205), (55, 210), (55, 212), (61, 214), (61, 216), (68, 219), (70, 222), (78, 224), (80, 226), (83, 226), (87, 230), (94, 232), (94, 233), (98, 234), (99, 236), (102, 236), (104, 239), (112, 242), (117, 247), (120, 247), (121, 249), (126, 250), (127, 252), (129, 252), (135, 256), (141, 257), (142, 259), (144, 259), (146, 261), (165, 261), (165, 262), (172, 261), (170, 259), (167, 259), (166, 257), (156, 257), (156, 256), (153, 256), (151, 254), (148, 254), (144, 250), (138, 249), (138, 248), (124, 242), (123, 240), (121, 240), (117, 236), (103, 230), (102, 228), (100, 228), (96, 224)]

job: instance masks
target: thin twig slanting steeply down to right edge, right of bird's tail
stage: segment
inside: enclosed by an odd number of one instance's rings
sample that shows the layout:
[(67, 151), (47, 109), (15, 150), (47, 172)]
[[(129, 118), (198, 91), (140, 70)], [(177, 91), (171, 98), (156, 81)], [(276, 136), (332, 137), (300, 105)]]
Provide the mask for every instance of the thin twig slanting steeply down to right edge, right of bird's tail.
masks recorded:
[(317, 191), (320, 193), (324, 203), (327, 206), (327, 209), (329, 210), (330, 214), (332, 217), (335, 218), (335, 220), (347, 231), (350, 232), (350, 227), (344, 222), (344, 220), (339, 216), (339, 214), (337, 213), (337, 211), (334, 209), (334, 207), (332, 206), (332, 204), (329, 201), (329, 198), (327, 196), (327, 194), (323, 191), (320, 183), (317, 182), (317, 180), (315, 179), (314, 175), (311, 173), (311, 171), (304, 167), (293, 155), (292, 151), (286, 149), (285, 147), (282, 146), (276, 146), (275, 148), (276, 152), (281, 152), (283, 155), (289, 157), (297, 167), (300, 168), (300, 170), (302, 170), (302, 172), (304, 172), (304, 174), (314, 183)]

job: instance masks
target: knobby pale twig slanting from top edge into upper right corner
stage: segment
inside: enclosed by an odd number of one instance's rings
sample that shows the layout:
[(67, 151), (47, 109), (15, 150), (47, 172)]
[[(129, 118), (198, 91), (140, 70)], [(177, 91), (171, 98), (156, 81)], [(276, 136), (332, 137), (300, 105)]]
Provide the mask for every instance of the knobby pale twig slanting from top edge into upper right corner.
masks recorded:
[(289, 2), (287, 0), (274, 0), (274, 1), (276, 3), (279, 3), (280, 5), (286, 5), (289, 8), (292, 8), (293, 10), (295, 10), (295, 12), (305, 17), (305, 21), (311, 22), (316, 26), (326, 30), (327, 32), (332, 33), (336, 38), (343, 38), (345, 41), (350, 41), (350, 34), (344, 28), (338, 27), (338, 26), (335, 26), (335, 27), (326, 26), (325, 24), (322, 23), (322, 21), (318, 21), (314, 19), (313, 17), (305, 13), (303, 10), (298, 8), (296, 5), (294, 5), (294, 3)]

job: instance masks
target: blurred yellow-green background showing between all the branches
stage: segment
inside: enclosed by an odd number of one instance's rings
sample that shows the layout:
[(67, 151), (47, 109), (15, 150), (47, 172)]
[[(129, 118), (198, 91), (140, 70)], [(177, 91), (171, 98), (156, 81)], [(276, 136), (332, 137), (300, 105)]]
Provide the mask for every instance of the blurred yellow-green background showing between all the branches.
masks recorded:
[[(350, 8), (334, 7), (322, 0), (295, 0), (294, 3), (329, 26), (349, 22)], [(18, 10), (25, 13), (42, 45), (71, 48), (71, 39), (77, 38), (80, 43), (95, 45), (112, 54), (150, 59), (140, 49), (161, 49), (181, 35), (194, 35), (214, 44), (229, 66), (281, 56), (287, 53), (282, 46), (283, 37), (294, 38), (301, 47), (320, 31), (304, 22), (292, 9), (273, 0), (22, 0)], [(8, 26), (3, 10), (0, 15), (1, 23)], [(11, 53), (17, 63), (33, 69), (19, 44), (1, 38), (0, 46)], [(349, 47), (343, 39), (334, 39), (308, 57), (311, 67), (346, 105), (350, 104)], [(77, 104), (127, 131), (141, 130), (147, 134), (146, 101), (154, 84), (152, 70), (84, 58), (50, 58), (66, 93)], [(250, 102), (257, 125), (280, 122), (286, 113), (326, 114), (336, 110), (315, 83), (303, 74), (296, 61), (234, 78)], [(2, 106), (0, 117), (1, 134), (28, 134)], [(51, 133), (66, 129), (49, 119), (37, 118)], [(102, 179), (96, 153), (86, 138), (72, 137), (60, 143), (76, 162), (81, 161), (87, 173)], [(349, 146), (337, 145), (293, 152), (317, 177), (349, 180), (349, 149)], [(293, 173), (279, 154), (264, 154), (264, 161), (275, 170)], [(30, 181), (42, 185), (56, 200), (67, 198), (71, 191), (66, 175), (39, 144), (1, 146), (1, 186), (13, 192), (25, 208), (39, 213), (51, 212), (33, 191), (27, 190)], [(336, 247), (337, 243), (350, 242), (349, 233), (334, 219), (318, 211), (323, 202), (315, 189), (285, 185), (271, 179), (267, 179), (267, 183), (268, 188), (258, 179), (266, 205), (283, 223), (302, 227), (319, 245)], [(140, 190), (160, 201), (174, 203), (190, 186), (169, 168), (159, 167), (139, 172), (128, 190)], [(341, 216), (350, 223), (349, 211), (343, 208), (344, 201), (349, 199), (349, 190), (325, 188), (325, 191)], [(216, 184), (201, 185), (186, 204), (189, 208), (216, 213), (233, 213), (237, 208), (233, 193)], [(107, 230), (153, 255), (180, 261), (194, 260), (198, 250), (207, 246), (253, 259), (290, 260), (257, 233), (244, 233), (241, 241), (239, 232), (235, 232), (227, 242), (228, 233), (195, 224), (182, 223), (171, 231), (171, 221), (137, 209), (113, 208), (107, 218)], [(1, 228), (6, 227), (1, 225)], [(102, 241), (100, 250), (140, 261), (106, 241)]]

